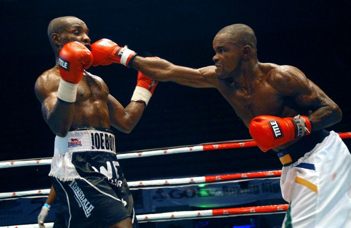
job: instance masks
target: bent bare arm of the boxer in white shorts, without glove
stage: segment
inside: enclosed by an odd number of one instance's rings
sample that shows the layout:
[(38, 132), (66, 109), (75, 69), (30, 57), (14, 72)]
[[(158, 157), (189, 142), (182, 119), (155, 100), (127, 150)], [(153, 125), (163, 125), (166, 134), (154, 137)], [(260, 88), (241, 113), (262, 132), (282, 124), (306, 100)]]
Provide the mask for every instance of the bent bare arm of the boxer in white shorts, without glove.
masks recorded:
[[(270, 84), (283, 96), (292, 100), (312, 121), (312, 131), (330, 127), (339, 122), (342, 112), (317, 85), (309, 80), (299, 69), (292, 66), (281, 66), (272, 72)], [(300, 114), (300, 113), (299, 113)]]

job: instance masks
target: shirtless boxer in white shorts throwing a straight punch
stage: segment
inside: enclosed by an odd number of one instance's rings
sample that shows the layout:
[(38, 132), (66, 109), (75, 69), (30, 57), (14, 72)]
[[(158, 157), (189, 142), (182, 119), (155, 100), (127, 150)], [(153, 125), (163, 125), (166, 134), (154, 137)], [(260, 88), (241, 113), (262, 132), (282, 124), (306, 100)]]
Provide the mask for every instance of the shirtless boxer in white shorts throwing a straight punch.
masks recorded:
[(324, 130), (341, 120), (339, 107), (296, 67), (259, 62), (247, 25), (221, 29), (213, 48), (215, 65), (192, 69), (101, 39), (92, 44), (93, 65), (120, 63), (158, 81), (216, 88), (258, 147), (277, 152), (290, 203), (283, 227), (351, 227), (351, 155), (337, 133)]

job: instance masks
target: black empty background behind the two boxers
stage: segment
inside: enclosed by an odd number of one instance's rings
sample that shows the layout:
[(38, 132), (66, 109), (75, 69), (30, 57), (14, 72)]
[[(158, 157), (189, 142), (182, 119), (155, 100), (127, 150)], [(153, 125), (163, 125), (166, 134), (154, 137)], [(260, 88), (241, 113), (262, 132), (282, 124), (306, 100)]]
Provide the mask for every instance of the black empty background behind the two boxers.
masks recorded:
[[(55, 64), (46, 29), (51, 19), (60, 16), (85, 21), (92, 42), (109, 38), (128, 44), (141, 56), (158, 56), (193, 68), (213, 64), (212, 39), (221, 28), (245, 23), (255, 31), (258, 59), (301, 69), (343, 111), (342, 121), (328, 130), (351, 131), (349, 1), (0, 0), (0, 4), (0, 161), (53, 155), (55, 136), (41, 116), (34, 84)], [(117, 64), (89, 71), (101, 76), (110, 93), (128, 105), (137, 71)], [(250, 138), (215, 89), (171, 82), (159, 83), (132, 133), (113, 131), (118, 152)], [(122, 161), (127, 178), (280, 168), (272, 152), (257, 148), (158, 157)], [(34, 175), (26, 174), (28, 169), (16, 175)]]

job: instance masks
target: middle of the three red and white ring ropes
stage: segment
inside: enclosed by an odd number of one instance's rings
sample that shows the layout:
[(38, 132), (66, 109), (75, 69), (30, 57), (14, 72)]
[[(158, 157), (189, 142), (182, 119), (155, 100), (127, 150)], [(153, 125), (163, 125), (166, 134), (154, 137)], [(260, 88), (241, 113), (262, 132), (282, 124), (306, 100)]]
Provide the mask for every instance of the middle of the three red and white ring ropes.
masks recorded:
[[(203, 183), (223, 183), (223, 182), (238, 182), (243, 180), (258, 179), (258, 178), (279, 178), (281, 171), (259, 171), (259, 172), (245, 172), (232, 173), (223, 175), (211, 176), (197, 176), (185, 178), (159, 179), (159, 180), (145, 180), (145, 181), (131, 181), (128, 186), (131, 190), (137, 189), (155, 189), (155, 188), (173, 188), (176, 186), (189, 186)], [(43, 190), (27, 190), (17, 192), (1, 192), (0, 199), (11, 197), (23, 197), (33, 195), (47, 195), (50, 189)]]

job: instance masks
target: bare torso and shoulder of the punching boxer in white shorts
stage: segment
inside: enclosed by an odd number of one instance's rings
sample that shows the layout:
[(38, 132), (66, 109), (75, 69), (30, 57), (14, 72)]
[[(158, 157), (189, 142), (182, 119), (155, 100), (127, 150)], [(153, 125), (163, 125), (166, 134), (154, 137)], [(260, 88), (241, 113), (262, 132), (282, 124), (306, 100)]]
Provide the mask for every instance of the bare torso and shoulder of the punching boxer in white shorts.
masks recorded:
[(251, 83), (245, 82), (244, 76), (232, 81), (217, 80), (217, 89), (246, 126), (258, 115), (308, 115), (332, 102), (318, 86), (292, 66), (260, 63), (259, 73)]

